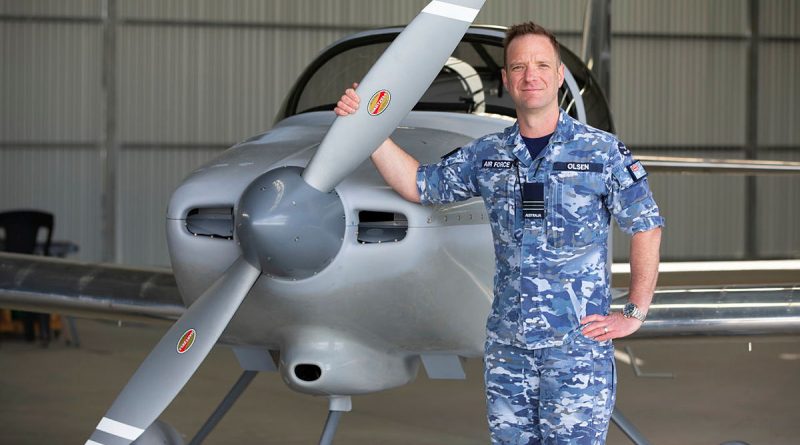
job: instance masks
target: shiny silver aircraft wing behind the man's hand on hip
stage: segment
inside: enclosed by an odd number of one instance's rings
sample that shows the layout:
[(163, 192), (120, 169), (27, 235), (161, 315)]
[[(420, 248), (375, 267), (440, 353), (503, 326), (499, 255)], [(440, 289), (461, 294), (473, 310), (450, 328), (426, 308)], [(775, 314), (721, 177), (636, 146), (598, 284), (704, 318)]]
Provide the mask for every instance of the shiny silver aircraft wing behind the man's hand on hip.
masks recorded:
[[(628, 301), (630, 265), (611, 266), (614, 300)], [(636, 337), (800, 333), (800, 260), (661, 263)]]

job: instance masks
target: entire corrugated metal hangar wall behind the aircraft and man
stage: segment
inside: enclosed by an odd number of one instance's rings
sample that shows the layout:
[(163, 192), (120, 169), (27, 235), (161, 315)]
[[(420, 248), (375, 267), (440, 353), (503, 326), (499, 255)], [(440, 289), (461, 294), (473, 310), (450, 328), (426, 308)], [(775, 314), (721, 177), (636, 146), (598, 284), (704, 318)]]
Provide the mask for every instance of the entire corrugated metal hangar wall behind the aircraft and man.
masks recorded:
[[(356, 30), (405, 23), (425, 0), (116, 2), (105, 54), (103, 0), (0, 0), (0, 210), (56, 214), (80, 258), (166, 265), (172, 189), (224, 147), (271, 126), (288, 88), (322, 48)], [(611, 101), (635, 153), (800, 159), (800, 7), (758, 2), (755, 96), (748, 96), (748, 0), (614, 0)], [(112, 6), (114, 3), (112, 3)], [(489, 1), (478, 23), (533, 19), (578, 52), (586, 0)], [(109, 96), (110, 95), (110, 96)], [(110, 98), (109, 98), (110, 97)], [(757, 98), (757, 110), (748, 98)], [(108, 126), (105, 107), (116, 127)], [(113, 134), (107, 134), (111, 128)], [(752, 137), (752, 136), (750, 136)], [(110, 170), (103, 156), (116, 144)], [(113, 187), (104, 185), (110, 172)], [(800, 256), (800, 181), (654, 175), (668, 259)], [(115, 232), (103, 245), (103, 196)], [(746, 215), (757, 212), (757, 251)], [(627, 240), (615, 238), (615, 257)]]

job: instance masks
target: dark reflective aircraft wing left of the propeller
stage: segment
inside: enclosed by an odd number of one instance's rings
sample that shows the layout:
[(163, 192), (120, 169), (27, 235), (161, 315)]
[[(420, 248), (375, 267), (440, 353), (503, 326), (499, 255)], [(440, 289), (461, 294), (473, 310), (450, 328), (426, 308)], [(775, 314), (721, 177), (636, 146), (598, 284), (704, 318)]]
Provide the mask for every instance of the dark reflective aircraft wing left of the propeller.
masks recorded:
[(0, 253), (0, 307), (173, 322), (185, 307), (172, 271)]

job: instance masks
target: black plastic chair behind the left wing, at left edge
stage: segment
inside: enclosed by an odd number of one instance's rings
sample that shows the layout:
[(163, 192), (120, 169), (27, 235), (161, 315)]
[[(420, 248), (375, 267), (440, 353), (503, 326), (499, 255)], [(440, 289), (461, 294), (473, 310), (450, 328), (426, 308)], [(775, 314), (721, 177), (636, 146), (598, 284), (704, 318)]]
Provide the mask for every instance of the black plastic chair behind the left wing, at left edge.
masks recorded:
[[(39, 231), (45, 229), (47, 238), (41, 251), (45, 256), (50, 255), (50, 242), (53, 237), (53, 214), (37, 210), (12, 210), (0, 212), (0, 229), (5, 232), (3, 251), (11, 253), (33, 254), (36, 251), (36, 241)], [(22, 320), (25, 328), (25, 339), (36, 340), (34, 322), (39, 322), (39, 335), (43, 346), (50, 342), (50, 314), (14, 311), (13, 315)]]

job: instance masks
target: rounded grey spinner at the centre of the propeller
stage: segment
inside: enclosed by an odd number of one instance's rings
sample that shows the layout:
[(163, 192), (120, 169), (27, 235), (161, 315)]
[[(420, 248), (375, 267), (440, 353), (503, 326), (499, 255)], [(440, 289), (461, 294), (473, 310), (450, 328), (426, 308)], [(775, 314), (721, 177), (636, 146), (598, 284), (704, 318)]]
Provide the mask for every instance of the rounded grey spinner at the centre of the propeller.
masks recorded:
[(265, 275), (308, 278), (323, 270), (342, 246), (345, 213), (335, 191), (308, 185), (299, 167), (256, 178), (236, 206), (236, 234), (244, 257)]

